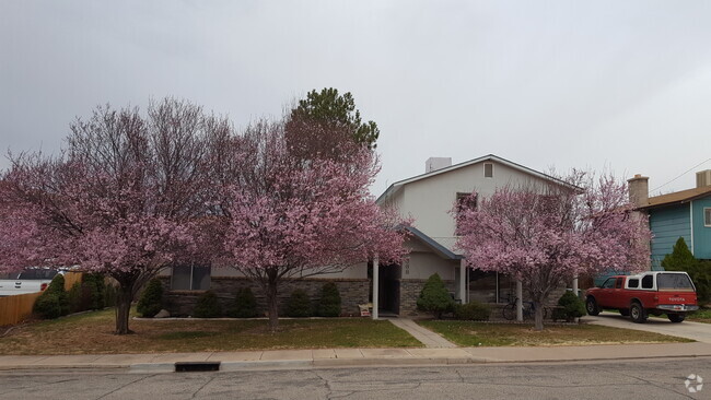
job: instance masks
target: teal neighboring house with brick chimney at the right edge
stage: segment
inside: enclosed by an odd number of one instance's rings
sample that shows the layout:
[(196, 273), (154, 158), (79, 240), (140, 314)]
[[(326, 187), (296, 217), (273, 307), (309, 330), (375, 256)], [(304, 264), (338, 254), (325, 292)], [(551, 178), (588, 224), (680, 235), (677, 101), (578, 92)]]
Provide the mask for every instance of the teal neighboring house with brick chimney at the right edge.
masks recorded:
[(662, 259), (684, 237), (698, 259), (711, 259), (711, 169), (697, 173), (697, 187), (649, 197), (646, 177), (629, 179), (630, 200), (650, 217), (651, 267), (661, 270)]

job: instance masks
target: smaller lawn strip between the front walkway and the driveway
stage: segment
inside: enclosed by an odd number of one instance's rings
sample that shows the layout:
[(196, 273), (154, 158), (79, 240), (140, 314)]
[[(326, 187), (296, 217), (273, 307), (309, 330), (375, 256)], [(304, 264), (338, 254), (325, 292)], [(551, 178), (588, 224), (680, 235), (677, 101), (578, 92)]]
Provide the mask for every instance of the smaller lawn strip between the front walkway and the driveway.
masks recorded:
[(462, 346), (587, 345), (619, 343), (692, 342), (692, 340), (595, 325), (548, 326), (535, 331), (533, 325), (481, 323), (471, 321), (420, 321)]

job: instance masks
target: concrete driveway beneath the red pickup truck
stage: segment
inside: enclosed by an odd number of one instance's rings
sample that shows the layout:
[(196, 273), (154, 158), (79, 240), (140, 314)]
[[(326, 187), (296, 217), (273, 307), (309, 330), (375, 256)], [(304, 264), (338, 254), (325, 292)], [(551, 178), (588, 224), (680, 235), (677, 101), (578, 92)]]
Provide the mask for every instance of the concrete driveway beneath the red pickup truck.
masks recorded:
[(629, 317), (622, 317), (619, 314), (613, 313), (602, 313), (597, 317), (585, 316), (581, 320), (595, 325), (604, 325), (606, 327), (644, 330), (711, 343), (711, 323), (691, 321), (672, 323), (666, 317), (650, 317), (645, 323), (634, 323)]

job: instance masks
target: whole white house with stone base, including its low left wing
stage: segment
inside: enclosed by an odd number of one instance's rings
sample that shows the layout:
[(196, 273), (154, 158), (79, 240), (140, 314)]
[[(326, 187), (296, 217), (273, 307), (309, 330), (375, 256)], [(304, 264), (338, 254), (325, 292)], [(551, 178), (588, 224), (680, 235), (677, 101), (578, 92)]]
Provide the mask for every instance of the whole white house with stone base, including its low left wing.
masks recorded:
[[(485, 273), (463, 267), (463, 256), (455, 248), (455, 204), (476, 190), (480, 197), (492, 195), (503, 186), (564, 183), (520, 164), (486, 155), (452, 165), (451, 158), (433, 157), (426, 163), (426, 173), (391, 185), (377, 199), (378, 204), (396, 207), (405, 219), (413, 219), (408, 227), (411, 235), (405, 246), (409, 256), (401, 264), (376, 266), (362, 262), (338, 273), (306, 279), (284, 280), (280, 287), (281, 305), (292, 291), (305, 290), (317, 299), (325, 282), (339, 289), (345, 315), (357, 315), (359, 305), (375, 301), (376, 307), (388, 314), (412, 315), (417, 297), (427, 279), (439, 273), (453, 296), (466, 303), (501, 302), (515, 289), (515, 282), (497, 273)], [(223, 307), (240, 287), (249, 286), (257, 297), (258, 308), (266, 309), (260, 289), (232, 268), (180, 266), (166, 269), (160, 277), (166, 290), (166, 307), (173, 315), (191, 315), (197, 297), (206, 290), (217, 293)]]

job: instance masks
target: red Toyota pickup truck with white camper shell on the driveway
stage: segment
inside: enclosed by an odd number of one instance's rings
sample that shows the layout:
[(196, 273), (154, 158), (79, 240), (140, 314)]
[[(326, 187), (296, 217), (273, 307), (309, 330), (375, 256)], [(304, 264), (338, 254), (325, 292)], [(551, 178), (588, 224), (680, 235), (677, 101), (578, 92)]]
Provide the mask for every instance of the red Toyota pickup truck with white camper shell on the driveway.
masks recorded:
[(599, 287), (585, 292), (585, 309), (598, 315), (603, 308), (618, 309), (634, 322), (646, 321), (652, 314), (666, 314), (672, 322), (681, 322), (688, 311), (699, 309), (696, 287), (686, 272), (654, 271), (638, 275), (608, 278)]

